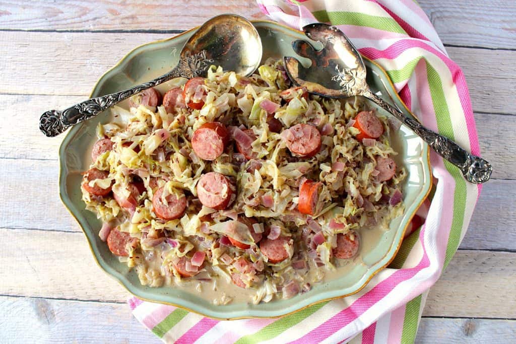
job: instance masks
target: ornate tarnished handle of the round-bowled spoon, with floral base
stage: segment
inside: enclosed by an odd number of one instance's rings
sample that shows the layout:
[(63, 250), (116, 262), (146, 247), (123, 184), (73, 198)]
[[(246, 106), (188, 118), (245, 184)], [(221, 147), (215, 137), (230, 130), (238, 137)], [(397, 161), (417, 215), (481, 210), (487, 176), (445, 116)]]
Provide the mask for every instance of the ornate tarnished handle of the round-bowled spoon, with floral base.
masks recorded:
[(39, 119), (39, 129), (48, 137), (57, 136), (64, 132), (71, 125), (89, 120), (102, 111), (134, 94), (140, 93), (143, 90), (157, 86), (159, 84), (163, 84), (165, 81), (175, 77), (183, 76), (186, 78), (192, 78), (201, 75), (205, 71), (206, 67), (208, 66), (208, 62), (210, 61), (211, 60), (206, 59), (206, 54), (204, 51), (191, 56), (188, 54), (184, 56), (181, 55), (177, 67), (175, 67), (170, 72), (149, 81), (148, 83), (137, 85), (120, 92), (91, 98), (84, 102), (75, 104), (74, 106), (69, 107), (63, 111), (46, 111)]

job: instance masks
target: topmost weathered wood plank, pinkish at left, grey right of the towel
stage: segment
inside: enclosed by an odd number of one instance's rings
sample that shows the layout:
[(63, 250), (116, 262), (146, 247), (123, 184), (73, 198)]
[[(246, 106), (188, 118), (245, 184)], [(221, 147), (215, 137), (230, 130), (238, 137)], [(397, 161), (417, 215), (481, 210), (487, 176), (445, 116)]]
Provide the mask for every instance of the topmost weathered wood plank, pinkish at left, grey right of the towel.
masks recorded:
[[(422, 0), (420, 6), (446, 44), (514, 48), (516, 14), (509, 0), (448, 2)], [(185, 8), (188, 8), (185, 11)], [(487, 11), (486, 8), (489, 8)], [(266, 18), (255, 2), (232, 0), (163, 1), (159, 5), (135, 0), (123, 3), (84, 0), (3, 3), (0, 29), (20, 30), (176, 30), (200, 25), (219, 13), (236, 13), (250, 19)], [(167, 20), (156, 20), (156, 14)], [(472, 20), (473, 18), (481, 20)], [(149, 27), (152, 23), (152, 27)]]

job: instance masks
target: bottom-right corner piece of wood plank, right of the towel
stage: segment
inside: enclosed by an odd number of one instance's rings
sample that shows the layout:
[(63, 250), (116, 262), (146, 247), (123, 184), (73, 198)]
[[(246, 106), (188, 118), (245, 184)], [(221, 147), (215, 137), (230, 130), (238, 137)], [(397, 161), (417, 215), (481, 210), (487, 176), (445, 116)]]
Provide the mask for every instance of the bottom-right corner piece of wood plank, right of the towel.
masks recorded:
[(515, 320), (422, 318), (416, 343), (509, 343), (516, 336)]

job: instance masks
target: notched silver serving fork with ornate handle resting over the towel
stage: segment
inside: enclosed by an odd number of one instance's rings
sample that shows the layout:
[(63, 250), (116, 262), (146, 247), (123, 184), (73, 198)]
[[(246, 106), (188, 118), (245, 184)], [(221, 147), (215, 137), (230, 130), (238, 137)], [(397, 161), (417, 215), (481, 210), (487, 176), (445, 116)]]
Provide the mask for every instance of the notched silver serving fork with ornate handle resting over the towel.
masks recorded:
[(323, 47), (316, 50), (307, 41), (292, 42), (297, 54), (312, 61), (309, 68), (304, 68), (296, 58), (283, 57), (285, 70), (294, 83), (306, 87), (310, 93), (326, 97), (364, 96), (414, 130), (434, 151), (457, 166), (467, 181), (480, 184), (491, 178), (493, 168), (488, 161), (425, 128), (374, 94), (366, 83), (362, 57), (341, 30), (327, 24), (314, 23), (304, 26), (303, 31), (311, 40), (322, 43)]

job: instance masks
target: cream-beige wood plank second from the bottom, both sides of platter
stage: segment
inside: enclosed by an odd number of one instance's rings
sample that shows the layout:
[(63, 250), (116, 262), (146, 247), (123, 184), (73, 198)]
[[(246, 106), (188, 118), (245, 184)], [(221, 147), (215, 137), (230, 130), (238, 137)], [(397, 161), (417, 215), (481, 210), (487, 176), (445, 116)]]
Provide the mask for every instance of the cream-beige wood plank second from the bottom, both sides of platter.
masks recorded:
[[(0, 294), (117, 302), (128, 296), (96, 266), (81, 233), (0, 228), (0, 238)], [(424, 315), (516, 318), (507, 298), (516, 289), (506, 282), (516, 278), (515, 259), (515, 253), (459, 251), (432, 288)]]

